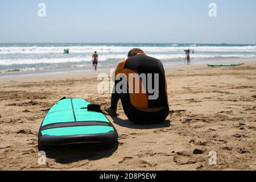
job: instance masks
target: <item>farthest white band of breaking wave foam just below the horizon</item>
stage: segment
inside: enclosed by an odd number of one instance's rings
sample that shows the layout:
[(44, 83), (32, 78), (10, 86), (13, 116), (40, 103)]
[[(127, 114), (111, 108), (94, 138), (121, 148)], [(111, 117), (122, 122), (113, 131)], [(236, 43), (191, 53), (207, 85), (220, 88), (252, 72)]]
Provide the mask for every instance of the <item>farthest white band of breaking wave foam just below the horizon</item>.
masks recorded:
[[(195, 52), (256, 52), (256, 46), (196, 46), (193, 44), (187, 47), (140, 47), (145, 52), (179, 52), (184, 49), (191, 49)], [(69, 48), (70, 53), (125, 53), (133, 47), (121, 46), (72, 46), (72, 47), (0, 47), (0, 55), (10, 54), (62, 54), (65, 48)]]

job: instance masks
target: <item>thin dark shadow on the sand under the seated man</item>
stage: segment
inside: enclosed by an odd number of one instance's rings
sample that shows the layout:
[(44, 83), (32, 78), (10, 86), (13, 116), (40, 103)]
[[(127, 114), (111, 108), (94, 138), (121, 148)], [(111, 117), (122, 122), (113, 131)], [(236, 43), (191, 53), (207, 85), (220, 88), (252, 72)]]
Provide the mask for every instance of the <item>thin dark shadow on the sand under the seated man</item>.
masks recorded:
[(171, 126), (170, 120), (166, 120), (166, 121), (164, 121), (162, 123), (158, 123), (158, 124), (142, 125), (142, 124), (137, 124), (137, 123), (131, 122), (129, 119), (121, 119), (118, 117), (112, 117), (112, 119), (116, 125), (119, 125), (122, 127), (127, 127), (129, 129), (148, 130), (148, 129), (160, 129), (160, 128)]

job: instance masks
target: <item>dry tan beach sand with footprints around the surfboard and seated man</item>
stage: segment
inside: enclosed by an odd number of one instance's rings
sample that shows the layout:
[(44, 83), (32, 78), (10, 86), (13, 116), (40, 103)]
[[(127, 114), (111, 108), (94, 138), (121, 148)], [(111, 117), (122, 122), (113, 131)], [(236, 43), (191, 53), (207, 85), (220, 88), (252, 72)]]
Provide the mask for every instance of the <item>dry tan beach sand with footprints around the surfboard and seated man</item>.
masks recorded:
[[(37, 139), (47, 110), (63, 96), (105, 106), (110, 94), (97, 92), (95, 72), (0, 78), (0, 169), (256, 170), (256, 62), (183, 65), (166, 73), (172, 109), (166, 122), (135, 125), (119, 104), (119, 118), (109, 117), (118, 146), (51, 148), (43, 166)], [(210, 151), (217, 165), (209, 165)]]

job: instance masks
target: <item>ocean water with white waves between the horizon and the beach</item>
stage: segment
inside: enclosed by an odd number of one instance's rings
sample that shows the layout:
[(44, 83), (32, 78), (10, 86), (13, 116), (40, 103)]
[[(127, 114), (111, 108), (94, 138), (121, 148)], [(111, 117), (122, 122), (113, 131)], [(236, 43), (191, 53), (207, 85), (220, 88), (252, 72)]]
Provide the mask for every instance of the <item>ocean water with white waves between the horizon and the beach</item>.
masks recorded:
[[(94, 51), (98, 52), (100, 69), (114, 68), (134, 47), (143, 49), (165, 65), (184, 64), (184, 49), (194, 51), (192, 64), (256, 60), (256, 45), (249, 44), (0, 43), (0, 72), (92, 69)], [(64, 55), (65, 48), (69, 49), (69, 55)]]

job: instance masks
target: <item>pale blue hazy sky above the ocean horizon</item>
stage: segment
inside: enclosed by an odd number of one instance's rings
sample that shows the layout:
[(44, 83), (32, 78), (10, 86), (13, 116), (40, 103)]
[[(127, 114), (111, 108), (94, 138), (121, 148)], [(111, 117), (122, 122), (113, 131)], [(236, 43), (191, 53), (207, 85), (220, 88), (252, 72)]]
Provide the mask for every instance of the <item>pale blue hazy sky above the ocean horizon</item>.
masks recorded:
[(9, 42), (256, 44), (256, 1), (0, 0), (0, 43)]

